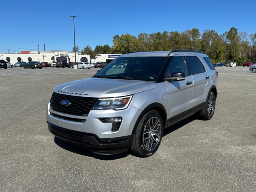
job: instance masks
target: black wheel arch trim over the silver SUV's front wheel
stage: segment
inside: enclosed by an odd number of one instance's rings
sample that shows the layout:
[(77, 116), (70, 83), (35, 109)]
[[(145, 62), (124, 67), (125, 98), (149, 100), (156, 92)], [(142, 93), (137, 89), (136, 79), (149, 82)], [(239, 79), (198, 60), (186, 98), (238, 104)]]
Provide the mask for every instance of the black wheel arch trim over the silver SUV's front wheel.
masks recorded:
[(160, 116), (162, 117), (162, 121), (163, 121), (163, 128), (165, 128), (167, 126), (167, 122), (166, 122), (166, 118), (167, 118), (167, 113), (166, 110), (164, 108), (164, 106), (160, 103), (152, 103), (150, 105), (148, 105), (144, 110), (142, 110), (142, 112), (140, 113), (140, 116), (137, 118), (136, 123), (134, 124), (133, 130), (132, 130), (132, 134), (135, 134), (136, 128), (141, 120), (141, 118), (149, 111), (151, 110), (156, 110)]

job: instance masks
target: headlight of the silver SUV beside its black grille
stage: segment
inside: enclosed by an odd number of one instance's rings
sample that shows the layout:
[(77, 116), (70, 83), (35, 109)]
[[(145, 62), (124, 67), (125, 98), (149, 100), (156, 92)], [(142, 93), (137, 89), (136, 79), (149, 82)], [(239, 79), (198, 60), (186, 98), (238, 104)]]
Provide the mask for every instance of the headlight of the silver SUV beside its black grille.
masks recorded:
[(125, 96), (125, 97), (98, 99), (94, 104), (94, 106), (92, 107), (92, 110), (125, 109), (128, 107), (131, 100), (132, 100), (132, 95)]

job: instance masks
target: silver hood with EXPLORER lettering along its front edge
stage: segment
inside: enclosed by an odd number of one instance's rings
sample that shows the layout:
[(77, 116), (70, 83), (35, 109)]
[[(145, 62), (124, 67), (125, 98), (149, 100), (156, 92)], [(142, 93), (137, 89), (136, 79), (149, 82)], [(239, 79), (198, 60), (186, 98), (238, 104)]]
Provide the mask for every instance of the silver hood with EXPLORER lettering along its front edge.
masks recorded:
[(156, 83), (138, 80), (88, 78), (58, 85), (54, 92), (94, 98), (119, 97), (156, 88)]

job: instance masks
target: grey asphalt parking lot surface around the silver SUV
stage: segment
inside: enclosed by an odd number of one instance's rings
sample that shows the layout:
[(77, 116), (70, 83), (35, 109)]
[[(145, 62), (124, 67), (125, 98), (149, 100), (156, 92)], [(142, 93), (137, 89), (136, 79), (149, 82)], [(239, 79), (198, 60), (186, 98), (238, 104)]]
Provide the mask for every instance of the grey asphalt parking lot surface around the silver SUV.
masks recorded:
[(46, 102), (54, 86), (97, 69), (0, 69), (0, 191), (256, 191), (256, 73), (216, 70), (214, 117), (169, 127), (156, 154), (140, 158), (92, 154), (48, 131)]

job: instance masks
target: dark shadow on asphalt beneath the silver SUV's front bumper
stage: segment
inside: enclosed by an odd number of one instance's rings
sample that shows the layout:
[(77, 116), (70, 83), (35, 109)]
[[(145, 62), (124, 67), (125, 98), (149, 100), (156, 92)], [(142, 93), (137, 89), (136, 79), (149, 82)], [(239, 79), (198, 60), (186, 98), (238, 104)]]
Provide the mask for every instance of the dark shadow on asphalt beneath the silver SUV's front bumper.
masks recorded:
[(58, 137), (54, 137), (54, 142), (60, 146), (61, 148), (68, 150), (70, 152), (76, 153), (76, 154), (80, 154), (83, 156), (89, 156), (89, 157), (93, 157), (96, 159), (100, 159), (100, 160), (115, 160), (115, 159), (121, 159), (124, 158), (126, 156), (129, 155), (129, 151), (125, 152), (125, 153), (120, 153), (120, 154), (115, 154), (115, 155), (99, 155), (99, 154), (95, 154), (92, 151), (85, 149), (85, 148), (80, 148), (78, 146), (72, 145), (68, 142), (65, 142), (64, 140), (61, 140)]

